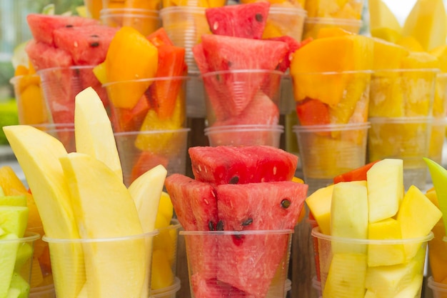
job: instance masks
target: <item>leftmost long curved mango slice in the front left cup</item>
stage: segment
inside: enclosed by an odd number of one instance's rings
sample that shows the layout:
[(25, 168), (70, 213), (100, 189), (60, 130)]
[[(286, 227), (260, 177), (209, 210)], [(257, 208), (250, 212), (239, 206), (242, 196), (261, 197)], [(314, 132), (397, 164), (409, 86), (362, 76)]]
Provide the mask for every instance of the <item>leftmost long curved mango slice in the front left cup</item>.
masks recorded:
[[(41, 214), (45, 234), (54, 238), (79, 238), (78, 227), (71, 209), (69, 186), (59, 162), (66, 157), (64, 145), (53, 136), (32, 126), (5, 126), (6, 137), (23, 169), (26, 181), (34, 195)], [(58, 294), (76, 298), (82, 287), (84, 254), (80, 244), (69, 249), (52, 249), (51, 267), (59, 277)], [(71, 259), (72, 266), (64, 266), (64, 259)], [(79, 282), (74, 283), (74, 279)]]

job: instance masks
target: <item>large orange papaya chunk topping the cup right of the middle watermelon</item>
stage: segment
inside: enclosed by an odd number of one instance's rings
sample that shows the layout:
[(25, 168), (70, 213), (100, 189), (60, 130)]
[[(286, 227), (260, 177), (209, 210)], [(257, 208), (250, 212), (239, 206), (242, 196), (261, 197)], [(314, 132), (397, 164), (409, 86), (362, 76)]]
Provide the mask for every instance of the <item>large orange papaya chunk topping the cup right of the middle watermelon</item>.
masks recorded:
[(353, 34), (315, 39), (293, 53), (290, 71), (295, 100), (309, 97), (334, 106), (348, 84), (349, 76), (341, 72), (371, 69), (372, 64), (371, 38)]

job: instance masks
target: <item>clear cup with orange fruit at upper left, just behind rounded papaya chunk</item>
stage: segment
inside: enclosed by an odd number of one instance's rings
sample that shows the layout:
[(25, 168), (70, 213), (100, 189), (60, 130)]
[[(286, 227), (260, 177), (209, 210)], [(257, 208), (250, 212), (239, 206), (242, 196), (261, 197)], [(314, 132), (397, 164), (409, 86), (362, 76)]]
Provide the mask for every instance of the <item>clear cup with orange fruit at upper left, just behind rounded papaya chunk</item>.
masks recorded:
[(129, 26), (144, 36), (161, 27), (159, 11), (146, 9), (102, 9), (100, 19), (106, 26)]

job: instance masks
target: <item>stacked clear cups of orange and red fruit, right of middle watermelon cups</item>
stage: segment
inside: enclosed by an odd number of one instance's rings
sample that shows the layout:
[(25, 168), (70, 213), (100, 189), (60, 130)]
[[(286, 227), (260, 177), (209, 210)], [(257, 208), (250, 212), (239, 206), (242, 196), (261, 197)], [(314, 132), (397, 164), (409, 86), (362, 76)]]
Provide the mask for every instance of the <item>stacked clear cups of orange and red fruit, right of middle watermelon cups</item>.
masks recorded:
[(309, 195), (366, 163), (370, 82), (367, 70), (293, 74), (294, 131)]

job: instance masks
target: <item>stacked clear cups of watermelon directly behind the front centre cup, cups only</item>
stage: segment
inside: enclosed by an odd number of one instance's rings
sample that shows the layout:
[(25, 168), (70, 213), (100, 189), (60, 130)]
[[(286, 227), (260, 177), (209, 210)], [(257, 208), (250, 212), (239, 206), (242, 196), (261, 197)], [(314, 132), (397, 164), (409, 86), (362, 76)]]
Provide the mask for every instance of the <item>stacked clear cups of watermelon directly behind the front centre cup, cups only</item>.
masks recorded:
[(211, 146), (279, 147), (281, 71), (242, 69), (201, 75), (205, 89), (205, 134)]

